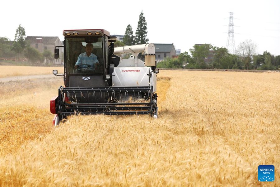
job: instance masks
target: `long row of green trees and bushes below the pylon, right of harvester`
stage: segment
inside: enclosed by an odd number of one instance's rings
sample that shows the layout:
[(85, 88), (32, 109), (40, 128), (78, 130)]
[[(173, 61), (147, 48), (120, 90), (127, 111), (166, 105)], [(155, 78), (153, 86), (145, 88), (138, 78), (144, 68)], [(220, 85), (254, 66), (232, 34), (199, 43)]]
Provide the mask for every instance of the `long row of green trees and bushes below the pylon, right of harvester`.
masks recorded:
[(159, 68), (186, 69), (240, 69), (240, 70), (280, 70), (280, 55), (270, 52), (255, 54), (256, 44), (252, 40), (241, 42), (236, 54), (230, 54), (225, 47), (211, 44), (194, 45), (178, 58), (166, 58), (157, 63)]

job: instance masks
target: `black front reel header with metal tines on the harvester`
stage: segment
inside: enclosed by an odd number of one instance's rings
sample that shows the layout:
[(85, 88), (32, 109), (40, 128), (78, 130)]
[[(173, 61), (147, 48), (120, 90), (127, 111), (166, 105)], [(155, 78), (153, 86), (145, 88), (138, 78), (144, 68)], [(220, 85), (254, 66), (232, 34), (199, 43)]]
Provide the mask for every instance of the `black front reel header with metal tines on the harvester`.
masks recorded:
[[(66, 118), (69, 115), (81, 114), (105, 114), (105, 115), (132, 115), (132, 114), (150, 114), (151, 117), (157, 112), (156, 106), (156, 93), (152, 93), (151, 87), (80, 87), (80, 88), (64, 88), (60, 86), (58, 89), (58, 115), (60, 119)], [(144, 102), (136, 102), (134, 97), (134, 102), (118, 103), (115, 100), (108, 99), (104, 103), (79, 103), (79, 102), (67, 102), (65, 97), (67, 95), (78, 95), (79, 97), (84, 97), (89, 95), (96, 96), (99, 94), (100, 97), (104, 96), (135, 96), (144, 94)], [(139, 94), (140, 93), (140, 94)], [(133, 106), (138, 105), (138, 106)], [(141, 105), (141, 106), (139, 106)]]

